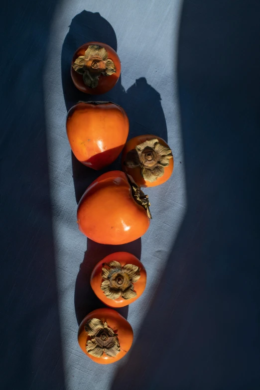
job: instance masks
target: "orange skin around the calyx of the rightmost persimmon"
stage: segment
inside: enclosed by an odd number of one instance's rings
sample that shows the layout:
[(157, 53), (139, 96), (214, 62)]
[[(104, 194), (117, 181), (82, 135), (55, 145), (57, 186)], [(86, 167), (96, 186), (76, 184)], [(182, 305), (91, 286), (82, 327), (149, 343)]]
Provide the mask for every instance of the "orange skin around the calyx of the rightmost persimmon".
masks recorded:
[(157, 135), (138, 135), (137, 137), (131, 138), (125, 145), (123, 152), (122, 152), (122, 167), (125, 172), (127, 172), (130, 176), (132, 176), (133, 180), (139, 187), (155, 187), (157, 185), (160, 185), (162, 183), (165, 183), (167, 181), (173, 171), (173, 157), (170, 159), (170, 164), (164, 168), (164, 174), (161, 177), (158, 177), (157, 180), (150, 182), (147, 180), (144, 180), (144, 178), (141, 175), (141, 168), (138, 166), (137, 168), (129, 168), (124, 164), (125, 158), (127, 153), (134, 149), (135, 146), (139, 145), (142, 142), (145, 142), (150, 139), (158, 139), (159, 143), (161, 143), (164, 146), (169, 147), (167, 143), (160, 137), (157, 137)]

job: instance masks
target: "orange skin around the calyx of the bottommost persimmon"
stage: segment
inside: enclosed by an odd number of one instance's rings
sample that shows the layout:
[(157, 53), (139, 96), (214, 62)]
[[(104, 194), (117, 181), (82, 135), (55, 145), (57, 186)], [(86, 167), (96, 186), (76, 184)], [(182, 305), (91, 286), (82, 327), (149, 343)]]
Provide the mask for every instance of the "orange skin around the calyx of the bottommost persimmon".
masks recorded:
[[(90, 340), (88, 333), (85, 331), (85, 324), (87, 321), (92, 318), (98, 318), (101, 321), (106, 321), (108, 326), (114, 330), (118, 335), (120, 343), (120, 352), (115, 357), (107, 356), (105, 353), (101, 358), (96, 358), (95, 356), (90, 355), (86, 351), (87, 340)], [(122, 359), (130, 350), (133, 340), (133, 332), (130, 323), (116, 310), (103, 308), (97, 309), (89, 313), (84, 320), (81, 322), (78, 331), (78, 342), (82, 351), (94, 362), (100, 364), (110, 364), (115, 363), (118, 360)]]

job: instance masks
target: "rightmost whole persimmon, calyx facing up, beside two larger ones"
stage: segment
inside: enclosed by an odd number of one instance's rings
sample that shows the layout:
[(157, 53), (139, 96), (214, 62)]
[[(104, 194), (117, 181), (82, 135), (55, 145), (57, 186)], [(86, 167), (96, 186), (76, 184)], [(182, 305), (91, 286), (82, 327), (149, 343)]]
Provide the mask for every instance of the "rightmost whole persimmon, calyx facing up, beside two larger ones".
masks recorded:
[(122, 168), (139, 187), (160, 185), (172, 174), (172, 151), (156, 135), (138, 135), (131, 138), (123, 149)]

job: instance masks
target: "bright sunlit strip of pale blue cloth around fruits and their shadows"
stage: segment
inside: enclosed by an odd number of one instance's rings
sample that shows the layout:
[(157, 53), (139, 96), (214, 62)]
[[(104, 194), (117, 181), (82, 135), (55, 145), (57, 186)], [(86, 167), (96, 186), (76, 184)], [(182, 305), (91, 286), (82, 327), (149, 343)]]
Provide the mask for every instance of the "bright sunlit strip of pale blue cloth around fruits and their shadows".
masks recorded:
[[(178, 96), (176, 72), (178, 30), (182, 0), (165, 1), (163, 7), (161, 1), (151, 1), (149, 6), (144, 6), (142, 1), (135, 2), (135, 7), (131, 9), (129, 18), (126, 16), (124, 22), (122, 21), (122, 12), (123, 8), (127, 6), (127, 2), (112, 0), (112, 8), (104, 6), (104, 4), (104, 0), (89, 0), (87, 2), (64, 0), (57, 6), (50, 31), (44, 73), (44, 109), (66, 389), (96, 388), (98, 379), (100, 389), (105, 388), (104, 383), (106, 382), (108, 390), (118, 367), (117, 365), (104, 366), (101, 375), (100, 366), (83, 356), (77, 342), (78, 324), (74, 308), (75, 281), (87, 249), (87, 240), (78, 231), (76, 224), (77, 203), (73, 183), (71, 149), (65, 130), (67, 110), (61, 83), (61, 52), (64, 39), (69, 32), (69, 26), (73, 24), (73, 18), (84, 11), (85, 7), (88, 7), (88, 12), (99, 12), (115, 30), (118, 40), (118, 54), (122, 63), (122, 88), (126, 93), (135, 84), (135, 80), (145, 78), (147, 85), (160, 94), (168, 129), (168, 143), (173, 148), (174, 157), (184, 162), (179, 106), (178, 101), (176, 101)], [(117, 8), (119, 9), (117, 10)], [(112, 12), (111, 9), (115, 9), (115, 12)], [(160, 20), (158, 20), (158, 15), (160, 15)], [(163, 29), (161, 29), (162, 25)], [(71, 41), (77, 41), (76, 35)], [(151, 47), (156, 56), (153, 56), (150, 67), (147, 67), (146, 59), (150, 58)], [(165, 47), (167, 47), (167, 51), (165, 51)], [(77, 47), (75, 47), (76, 49)], [(163, 69), (160, 58), (163, 58)], [(163, 73), (159, 71), (155, 73), (155, 69), (162, 70)], [(136, 97), (137, 101), (138, 97)], [(156, 112), (152, 112), (152, 115), (156, 115)], [(101, 145), (102, 148), (103, 146)], [(178, 168), (175, 168), (177, 187), (169, 182), (160, 188), (146, 191), (152, 204), (151, 212), (154, 219), (148, 232), (141, 239), (141, 261), (145, 266), (147, 264), (148, 268), (151, 255), (159, 259), (156, 264), (158, 279), (159, 273), (162, 274), (166, 266), (186, 212), (186, 187), (183, 179), (184, 174), (181, 171), (184, 170), (184, 167), (185, 165), (182, 163), (179, 164)], [(178, 177), (181, 179), (178, 180)], [(162, 200), (165, 197), (171, 199), (166, 209), (162, 206)], [(165, 226), (160, 224), (158, 215), (159, 213), (165, 215), (167, 220), (167, 216), (172, 212), (174, 212), (174, 226), (163, 231)], [(124, 229), (127, 231), (130, 227), (125, 224)], [(152, 254), (149, 253), (151, 242), (158, 242), (158, 248), (154, 248), (153, 245)], [(150, 270), (152, 271), (151, 268)], [(152, 297), (155, 290), (154, 283), (153, 279), (147, 282), (143, 299), (145, 294)], [(149, 305), (144, 305), (141, 299), (142, 297), (129, 307), (128, 320), (135, 335), (149, 309)], [(90, 372), (91, 375), (89, 375)]]

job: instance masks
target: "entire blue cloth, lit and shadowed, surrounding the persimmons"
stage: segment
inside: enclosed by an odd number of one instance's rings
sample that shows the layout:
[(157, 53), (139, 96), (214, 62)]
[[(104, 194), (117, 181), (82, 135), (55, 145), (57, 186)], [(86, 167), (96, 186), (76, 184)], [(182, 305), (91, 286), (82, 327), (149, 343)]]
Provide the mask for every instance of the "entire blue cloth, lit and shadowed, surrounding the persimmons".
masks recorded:
[[(260, 2), (9, 0), (1, 12), (0, 389), (260, 389)], [(87, 240), (77, 202), (102, 172), (78, 163), (67, 110), (91, 99), (70, 61), (97, 40), (122, 77), (130, 137), (160, 135), (174, 172), (148, 189), (148, 232), (120, 247)], [(98, 100), (98, 97), (95, 98)], [(77, 344), (102, 303), (94, 265), (126, 250), (147, 269), (120, 312), (134, 343), (100, 366)]]

